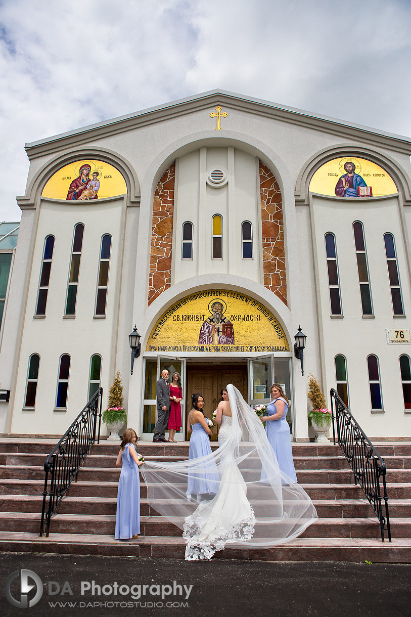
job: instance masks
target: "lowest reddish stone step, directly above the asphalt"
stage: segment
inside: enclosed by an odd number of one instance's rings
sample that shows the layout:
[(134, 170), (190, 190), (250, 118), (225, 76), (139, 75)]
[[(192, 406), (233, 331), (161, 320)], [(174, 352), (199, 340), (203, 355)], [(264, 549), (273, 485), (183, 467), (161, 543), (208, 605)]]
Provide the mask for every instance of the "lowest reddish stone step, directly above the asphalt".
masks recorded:
[[(214, 559), (261, 561), (351, 561), (355, 563), (409, 563), (411, 539), (394, 538), (381, 542), (372, 538), (304, 538), (271, 549), (227, 547)], [(39, 537), (32, 532), (0, 532), (0, 551), (100, 555), (111, 557), (153, 557), (183, 559), (182, 537), (139, 536), (135, 540), (114, 540), (112, 535), (51, 534)]]

